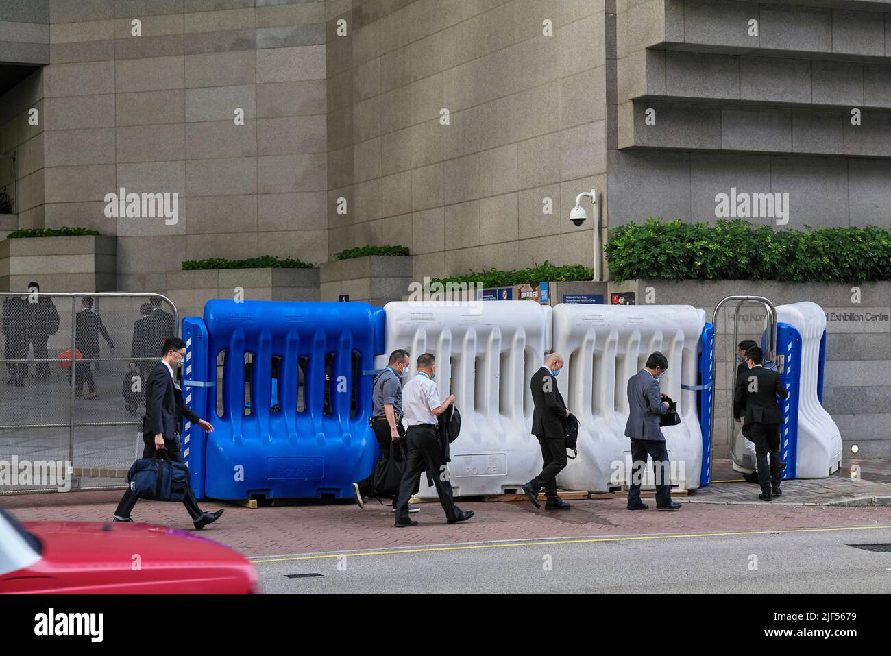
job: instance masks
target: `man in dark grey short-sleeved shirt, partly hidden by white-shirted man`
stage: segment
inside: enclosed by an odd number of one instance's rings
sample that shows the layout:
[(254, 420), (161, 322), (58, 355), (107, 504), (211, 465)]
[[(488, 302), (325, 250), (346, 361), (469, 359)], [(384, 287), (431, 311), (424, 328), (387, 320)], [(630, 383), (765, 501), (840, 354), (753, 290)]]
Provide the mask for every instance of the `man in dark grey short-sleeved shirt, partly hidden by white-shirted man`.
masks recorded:
[[(387, 367), (375, 379), (372, 389), (372, 430), (380, 446), (380, 459), (372, 467), (372, 473), (363, 480), (353, 483), (353, 496), (356, 504), (363, 508), (364, 497), (376, 492), (393, 497), (393, 510), (396, 511), (396, 495), (399, 481), (405, 466), (405, 429), (402, 425), (402, 382), (409, 369), (409, 354), (405, 348), (396, 348), (390, 353)], [(398, 463), (398, 464), (397, 464)], [(395, 480), (395, 485), (393, 481)], [(416, 494), (420, 483), (414, 489)], [(417, 505), (410, 505), (408, 512), (420, 512)]]

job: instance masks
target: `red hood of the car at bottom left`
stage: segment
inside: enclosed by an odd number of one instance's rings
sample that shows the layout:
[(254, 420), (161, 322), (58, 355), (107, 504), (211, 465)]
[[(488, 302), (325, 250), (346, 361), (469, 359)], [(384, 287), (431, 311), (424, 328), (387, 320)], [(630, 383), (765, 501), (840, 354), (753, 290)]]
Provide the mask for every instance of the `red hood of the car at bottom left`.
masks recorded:
[(0, 592), (246, 594), (257, 573), (205, 537), (152, 524), (29, 521), (41, 559), (0, 577)]

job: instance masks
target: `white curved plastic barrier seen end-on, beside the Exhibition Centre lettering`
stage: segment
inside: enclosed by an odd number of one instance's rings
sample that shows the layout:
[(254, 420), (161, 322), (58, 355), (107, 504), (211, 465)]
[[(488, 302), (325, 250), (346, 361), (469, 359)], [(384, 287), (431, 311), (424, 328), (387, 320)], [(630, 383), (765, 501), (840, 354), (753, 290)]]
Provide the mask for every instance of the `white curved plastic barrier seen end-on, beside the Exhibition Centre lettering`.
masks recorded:
[(797, 471), (799, 479), (824, 479), (838, 470), (841, 433), (817, 397), (820, 342), (826, 313), (811, 301), (777, 306), (779, 321), (801, 334), (801, 381), (798, 399)]

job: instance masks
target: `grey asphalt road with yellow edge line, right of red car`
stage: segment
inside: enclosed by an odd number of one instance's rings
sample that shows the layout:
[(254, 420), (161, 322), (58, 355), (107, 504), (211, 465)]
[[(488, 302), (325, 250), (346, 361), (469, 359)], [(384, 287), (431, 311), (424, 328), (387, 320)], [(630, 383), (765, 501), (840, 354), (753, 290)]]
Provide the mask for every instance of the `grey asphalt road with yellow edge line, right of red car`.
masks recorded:
[(560, 537), (251, 560), (264, 592), (275, 594), (888, 594), (891, 551), (850, 546), (875, 543), (891, 547), (891, 528)]

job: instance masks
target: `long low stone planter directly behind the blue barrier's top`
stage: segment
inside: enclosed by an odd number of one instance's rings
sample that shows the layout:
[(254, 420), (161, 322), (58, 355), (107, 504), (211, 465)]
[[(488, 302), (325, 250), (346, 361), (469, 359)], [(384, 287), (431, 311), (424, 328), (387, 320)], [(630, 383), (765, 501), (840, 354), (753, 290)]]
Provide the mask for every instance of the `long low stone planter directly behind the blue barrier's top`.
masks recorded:
[(201, 316), (209, 299), (318, 300), (319, 269), (257, 268), (168, 271), (167, 296), (179, 316)]

